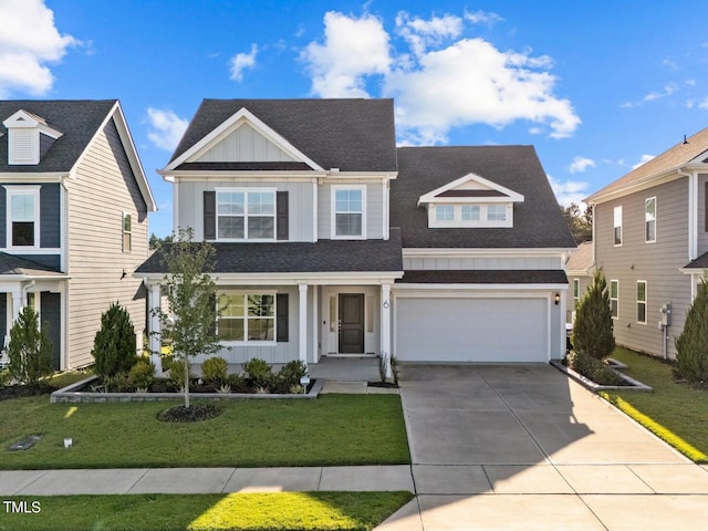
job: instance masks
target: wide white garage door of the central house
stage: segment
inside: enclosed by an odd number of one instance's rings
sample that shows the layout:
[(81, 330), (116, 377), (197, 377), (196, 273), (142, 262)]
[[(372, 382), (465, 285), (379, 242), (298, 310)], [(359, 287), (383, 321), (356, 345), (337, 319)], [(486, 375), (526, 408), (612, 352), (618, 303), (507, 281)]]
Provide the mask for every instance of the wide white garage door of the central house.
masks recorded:
[(408, 362), (548, 362), (546, 299), (396, 300), (396, 357)]

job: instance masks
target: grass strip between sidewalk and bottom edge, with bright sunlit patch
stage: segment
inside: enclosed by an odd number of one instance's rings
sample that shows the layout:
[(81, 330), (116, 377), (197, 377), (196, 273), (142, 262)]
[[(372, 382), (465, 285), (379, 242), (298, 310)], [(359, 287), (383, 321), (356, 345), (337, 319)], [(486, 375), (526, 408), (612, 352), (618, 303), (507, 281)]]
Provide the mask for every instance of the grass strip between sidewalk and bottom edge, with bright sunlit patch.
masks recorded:
[(25, 501), (39, 512), (11, 513), (2, 507), (0, 530), (364, 531), (412, 498), (410, 492), (7, 497), (3, 501)]

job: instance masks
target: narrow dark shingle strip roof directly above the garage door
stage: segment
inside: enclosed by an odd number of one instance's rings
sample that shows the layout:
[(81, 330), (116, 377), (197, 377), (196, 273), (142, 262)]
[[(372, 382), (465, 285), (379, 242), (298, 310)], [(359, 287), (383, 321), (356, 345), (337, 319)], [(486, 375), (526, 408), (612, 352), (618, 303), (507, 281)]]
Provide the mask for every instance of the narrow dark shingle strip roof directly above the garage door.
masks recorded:
[(476, 269), (455, 271), (406, 271), (397, 283), (408, 284), (568, 284), (565, 272), (553, 270)]

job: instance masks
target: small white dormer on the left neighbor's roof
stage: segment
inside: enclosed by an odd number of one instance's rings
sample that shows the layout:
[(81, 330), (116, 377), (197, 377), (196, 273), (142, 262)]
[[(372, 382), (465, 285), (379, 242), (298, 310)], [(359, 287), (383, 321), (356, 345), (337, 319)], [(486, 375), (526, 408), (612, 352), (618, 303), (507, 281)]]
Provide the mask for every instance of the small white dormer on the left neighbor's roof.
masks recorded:
[(62, 133), (46, 121), (20, 110), (2, 122), (8, 129), (8, 164), (38, 165)]

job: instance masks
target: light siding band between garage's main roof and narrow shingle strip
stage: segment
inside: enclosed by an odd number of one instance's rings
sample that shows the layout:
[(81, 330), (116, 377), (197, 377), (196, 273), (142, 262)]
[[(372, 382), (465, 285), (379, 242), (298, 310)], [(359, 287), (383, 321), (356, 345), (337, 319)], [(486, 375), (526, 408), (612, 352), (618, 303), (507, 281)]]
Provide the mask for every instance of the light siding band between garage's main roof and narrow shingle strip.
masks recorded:
[[(405, 254), (405, 251), (404, 251)], [(405, 257), (404, 271), (449, 271), (449, 270), (551, 270), (562, 269), (560, 257)]]

